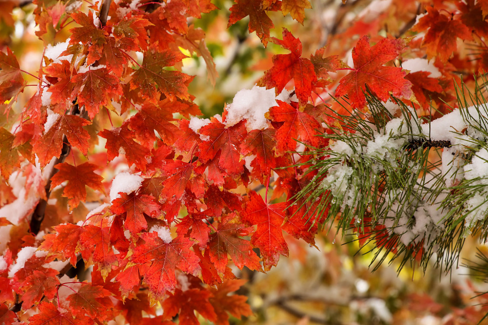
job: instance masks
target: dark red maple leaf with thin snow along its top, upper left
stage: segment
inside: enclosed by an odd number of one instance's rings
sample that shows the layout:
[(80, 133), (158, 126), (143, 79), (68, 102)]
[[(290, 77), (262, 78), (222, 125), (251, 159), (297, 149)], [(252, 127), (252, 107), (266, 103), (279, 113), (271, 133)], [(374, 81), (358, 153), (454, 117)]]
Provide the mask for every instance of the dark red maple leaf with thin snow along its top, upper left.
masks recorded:
[(74, 92), (78, 94), (78, 104), (85, 105), (91, 119), (97, 115), (100, 106), (106, 105), (109, 98), (122, 94), (119, 78), (109, 74), (107, 68), (88, 68), (71, 78), (75, 84)]

